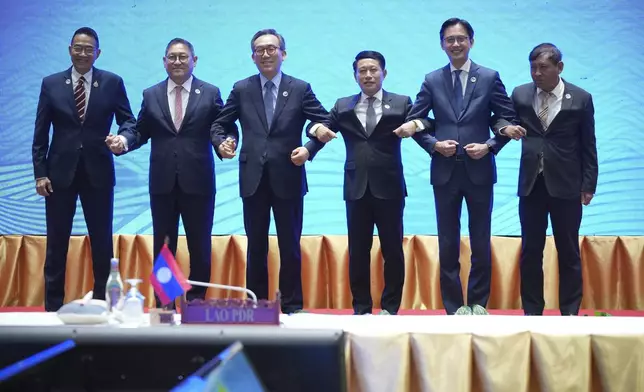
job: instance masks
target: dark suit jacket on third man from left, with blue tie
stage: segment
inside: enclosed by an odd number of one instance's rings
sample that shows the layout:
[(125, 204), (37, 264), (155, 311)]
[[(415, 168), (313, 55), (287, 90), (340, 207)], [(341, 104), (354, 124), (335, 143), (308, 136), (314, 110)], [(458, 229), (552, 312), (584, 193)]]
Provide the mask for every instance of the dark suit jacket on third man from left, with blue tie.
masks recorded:
[[(241, 197), (252, 196), (267, 165), (273, 192), (280, 198), (302, 197), (308, 192), (304, 165), (291, 162), (291, 152), (302, 145), (306, 120), (322, 122), (327, 111), (315, 97), (311, 86), (300, 79), (282, 74), (272, 124), (266, 124), (264, 100), (259, 75), (240, 80), (226, 101), (220, 116), (212, 125), (217, 145), (226, 137), (239, 140), (237, 129), (230, 127), (239, 120), (242, 144), (239, 151), (239, 189)], [(305, 147), (311, 153), (322, 143), (310, 140)]]

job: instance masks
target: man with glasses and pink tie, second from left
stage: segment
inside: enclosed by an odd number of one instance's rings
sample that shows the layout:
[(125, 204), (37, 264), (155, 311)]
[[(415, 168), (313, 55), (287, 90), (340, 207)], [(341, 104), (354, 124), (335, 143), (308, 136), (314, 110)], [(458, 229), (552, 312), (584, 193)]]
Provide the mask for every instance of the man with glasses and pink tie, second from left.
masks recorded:
[[(189, 279), (210, 282), (216, 192), (210, 126), (223, 101), (217, 87), (193, 75), (197, 56), (190, 42), (171, 40), (163, 64), (168, 78), (143, 92), (136, 129), (120, 132), (107, 143), (121, 153), (152, 140), (149, 187), (154, 255), (166, 237), (176, 254), (181, 216), (190, 252)], [(187, 293), (188, 299), (205, 295), (206, 288), (200, 286)]]

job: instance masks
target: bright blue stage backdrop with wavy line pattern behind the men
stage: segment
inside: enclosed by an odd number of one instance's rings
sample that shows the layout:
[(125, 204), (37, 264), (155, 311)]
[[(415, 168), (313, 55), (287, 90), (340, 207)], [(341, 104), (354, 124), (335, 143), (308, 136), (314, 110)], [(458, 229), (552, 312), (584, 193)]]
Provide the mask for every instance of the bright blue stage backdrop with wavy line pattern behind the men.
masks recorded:
[[(508, 92), (530, 81), (528, 53), (553, 42), (564, 55), (564, 78), (593, 94), (599, 150), (599, 187), (584, 209), (584, 235), (644, 234), (644, 107), (641, 68), (644, 2), (625, 0), (475, 1), (152, 1), (0, 0), (0, 233), (42, 234), (44, 202), (34, 189), (31, 142), (44, 76), (69, 67), (71, 35), (81, 26), (98, 31), (96, 66), (123, 77), (134, 113), (142, 91), (166, 77), (167, 42), (183, 37), (199, 57), (195, 75), (219, 86), (224, 100), (236, 80), (256, 72), (249, 41), (273, 27), (286, 38), (284, 72), (307, 80), (330, 109), (358, 92), (351, 63), (361, 50), (387, 59), (385, 89), (415, 97), (424, 75), (447, 63), (441, 23), (453, 16), (475, 29), (471, 58), (500, 72)], [(638, 49), (639, 48), (639, 49)], [(113, 128), (113, 131), (116, 127)], [(405, 232), (435, 234), (429, 157), (403, 141), (409, 197)], [(492, 230), (520, 234), (516, 184), (520, 144), (498, 157)], [(346, 234), (342, 200), (345, 157), (341, 139), (307, 163), (304, 234)], [(116, 234), (151, 234), (147, 177), (149, 145), (116, 159)], [(217, 162), (213, 234), (243, 234), (238, 162)], [(79, 205), (79, 212), (82, 211)], [(463, 232), (467, 232), (464, 214)], [(274, 229), (271, 228), (272, 233)], [(86, 233), (82, 214), (74, 233)]]

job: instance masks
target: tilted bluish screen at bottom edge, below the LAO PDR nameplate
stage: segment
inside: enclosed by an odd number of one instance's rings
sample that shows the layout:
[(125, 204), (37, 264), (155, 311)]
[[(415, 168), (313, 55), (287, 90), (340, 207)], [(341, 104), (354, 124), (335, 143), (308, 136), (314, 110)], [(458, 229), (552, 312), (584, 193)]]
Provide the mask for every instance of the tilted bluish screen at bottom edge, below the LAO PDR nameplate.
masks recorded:
[(266, 392), (243, 348), (233, 343), (172, 392)]

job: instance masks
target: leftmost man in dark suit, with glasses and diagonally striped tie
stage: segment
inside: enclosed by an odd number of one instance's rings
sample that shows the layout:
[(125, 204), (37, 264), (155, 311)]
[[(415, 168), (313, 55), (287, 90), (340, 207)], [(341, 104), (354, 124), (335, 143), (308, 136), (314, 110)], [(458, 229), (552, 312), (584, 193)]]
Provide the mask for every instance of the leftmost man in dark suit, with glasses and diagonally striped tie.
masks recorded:
[(134, 125), (134, 116), (123, 80), (94, 68), (100, 54), (96, 31), (76, 30), (69, 46), (72, 67), (44, 78), (40, 90), (32, 155), (36, 191), (45, 196), (47, 311), (57, 311), (65, 299), (67, 250), (79, 196), (92, 246), (94, 298), (105, 299), (115, 179), (114, 160), (103, 141), (114, 117), (125, 130)]

